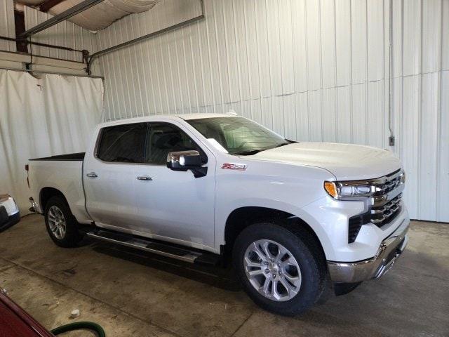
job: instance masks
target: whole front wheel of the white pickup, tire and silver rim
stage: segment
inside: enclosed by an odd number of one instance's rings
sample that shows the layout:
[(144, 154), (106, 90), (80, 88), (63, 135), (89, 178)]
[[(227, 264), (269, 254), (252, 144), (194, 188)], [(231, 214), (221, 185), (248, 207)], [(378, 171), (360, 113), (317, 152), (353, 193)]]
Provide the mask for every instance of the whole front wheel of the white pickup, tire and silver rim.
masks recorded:
[(307, 231), (272, 223), (256, 223), (239, 234), (234, 244), (234, 267), (257, 305), (293, 316), (319, 300), (326, 268), (311, 239)]

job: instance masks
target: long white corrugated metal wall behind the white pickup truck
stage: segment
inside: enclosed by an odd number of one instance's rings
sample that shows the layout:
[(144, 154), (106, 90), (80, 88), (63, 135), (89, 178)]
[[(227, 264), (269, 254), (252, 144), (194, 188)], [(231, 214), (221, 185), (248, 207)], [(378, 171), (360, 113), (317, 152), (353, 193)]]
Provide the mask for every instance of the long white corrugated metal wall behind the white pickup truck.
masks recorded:
[[(163, 27), (173, 10), (197, 14), (173, 2), (102, 30), (99, 48)], [(202, 22), (100, 59), (107, 119), (233, 109), (291, 139), (389, 148), (408, 174), (411, 217), (449, 221), (449, 0), (393, 1), (395, 147), (389, 1), (205, 0), (205, 9)]]

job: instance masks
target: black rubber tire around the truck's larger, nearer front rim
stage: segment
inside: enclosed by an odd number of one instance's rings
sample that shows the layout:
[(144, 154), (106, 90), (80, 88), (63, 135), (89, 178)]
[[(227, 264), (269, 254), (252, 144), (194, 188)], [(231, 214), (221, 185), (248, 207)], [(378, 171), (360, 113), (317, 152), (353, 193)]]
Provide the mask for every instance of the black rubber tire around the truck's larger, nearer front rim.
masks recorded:
[[(327, 268), (321, 249), (316, 239), (299, 226), (288, 228), (276, 223), (255, 223), (246, 227), (234, 244), (234, 268), (246, 293), (261, 308), (279, 315), (295, 316), (305, 312), (319, 300), (326, 286)], [(271, 240), (293, 254), (302, 278), (299, 291), (293, 298), (284, 301), (267, 298), (250, 283), (243, 258), (246, 249), (257, 240)]]

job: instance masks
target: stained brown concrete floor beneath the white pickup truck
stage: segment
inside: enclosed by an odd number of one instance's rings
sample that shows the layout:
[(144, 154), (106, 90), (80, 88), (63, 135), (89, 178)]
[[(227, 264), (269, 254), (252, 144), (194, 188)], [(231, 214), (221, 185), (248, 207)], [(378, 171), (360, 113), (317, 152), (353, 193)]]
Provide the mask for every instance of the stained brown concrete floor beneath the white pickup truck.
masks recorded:
[[(0, 286), (52, 329), (76, 320), (107, 336), (449, 336), (449, 225), (413, 222), (393, 270), (301, 317), (257, 308), (232, 273), (88, 239), (55, 246), (41, 216), (0, 233)], [(71, 334), (70, 336), (87, 336)]]

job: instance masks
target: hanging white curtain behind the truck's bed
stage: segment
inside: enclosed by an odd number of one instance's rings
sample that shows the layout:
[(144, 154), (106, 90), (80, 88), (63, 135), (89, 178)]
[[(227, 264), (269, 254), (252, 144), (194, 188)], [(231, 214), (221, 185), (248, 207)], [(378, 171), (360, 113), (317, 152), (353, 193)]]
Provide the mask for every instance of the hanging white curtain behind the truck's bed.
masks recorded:
[(85, 152), (102, 111), (101, 79), (0, 70), (0, 194), (29, 213), (27, 160)]

